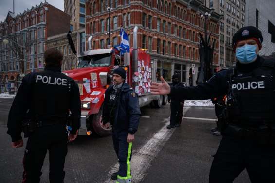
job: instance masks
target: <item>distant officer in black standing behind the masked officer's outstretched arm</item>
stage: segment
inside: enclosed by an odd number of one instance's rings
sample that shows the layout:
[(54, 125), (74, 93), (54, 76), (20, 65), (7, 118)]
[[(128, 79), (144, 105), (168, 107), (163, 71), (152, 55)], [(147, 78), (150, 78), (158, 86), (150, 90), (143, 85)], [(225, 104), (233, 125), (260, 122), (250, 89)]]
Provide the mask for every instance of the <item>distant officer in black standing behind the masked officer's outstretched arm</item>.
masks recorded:
[[(174, 74), (172, 76), (172, 84), (173, 87), (184, 86), (184, 83), (180, 82), (179, 75)], [(168, 102), (171, 108), (171, 117), (170, 117), (170, 124), (167, 126), (168, 129), (179, 127), (182, 118), (183, 118), (183, 107), (184, 107), (184, 99), (177, 100), (174, 96), (168, 95)]]

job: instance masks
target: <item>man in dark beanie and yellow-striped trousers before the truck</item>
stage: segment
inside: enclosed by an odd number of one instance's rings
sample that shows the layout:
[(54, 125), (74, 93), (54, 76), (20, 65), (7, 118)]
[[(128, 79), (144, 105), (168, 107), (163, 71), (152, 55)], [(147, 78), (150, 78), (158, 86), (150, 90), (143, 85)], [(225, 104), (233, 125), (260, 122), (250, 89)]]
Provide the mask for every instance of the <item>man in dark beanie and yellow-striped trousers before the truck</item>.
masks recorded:
[(118, 157), (118, 172), (111, 175), (116, 183), (131, 183), (131, 149), (140, 120), (137, 94), (125, 83), (126, 71), (113, 71), (113, 85), (105, 92), (103, 124), (112, 125), (113, 146)]

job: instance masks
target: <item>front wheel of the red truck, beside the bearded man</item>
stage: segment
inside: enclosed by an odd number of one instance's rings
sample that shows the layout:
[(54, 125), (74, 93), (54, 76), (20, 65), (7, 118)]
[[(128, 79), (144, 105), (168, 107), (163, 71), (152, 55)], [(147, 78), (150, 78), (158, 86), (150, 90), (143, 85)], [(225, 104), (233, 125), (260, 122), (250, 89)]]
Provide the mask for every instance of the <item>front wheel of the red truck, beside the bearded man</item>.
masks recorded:
[(110, 123), (107, 123), (105, 126), (102, 123), (102, 109), (99, 110), (92, 118), (92, 126), (95, 133), (99, 136), (109, 136), (112, 132)]

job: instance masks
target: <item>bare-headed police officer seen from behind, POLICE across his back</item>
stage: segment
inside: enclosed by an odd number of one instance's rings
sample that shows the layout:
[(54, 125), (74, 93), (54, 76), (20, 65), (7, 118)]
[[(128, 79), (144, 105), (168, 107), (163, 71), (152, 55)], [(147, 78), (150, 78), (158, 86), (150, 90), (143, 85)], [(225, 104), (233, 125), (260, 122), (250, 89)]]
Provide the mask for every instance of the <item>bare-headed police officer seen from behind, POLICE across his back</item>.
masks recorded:
[[(18, 89), (8, 116), (12, 147), (23, 146), (22, 121), (28, 114), (30, 133), (23, 158), (23, 183), (39, 183), (41, 168), (49, 150), (50, 183), (63, 183), (67, 141), (76, 138), (80, 127), (80, 96), (77, 84), (61, 73), (63, 55), (50, 48), (44, 53), (45, 69), (27, 74)], [(71, 111), (72, 131), (66, 130)], [(27, 113), (28, 112), (28, 113)]]

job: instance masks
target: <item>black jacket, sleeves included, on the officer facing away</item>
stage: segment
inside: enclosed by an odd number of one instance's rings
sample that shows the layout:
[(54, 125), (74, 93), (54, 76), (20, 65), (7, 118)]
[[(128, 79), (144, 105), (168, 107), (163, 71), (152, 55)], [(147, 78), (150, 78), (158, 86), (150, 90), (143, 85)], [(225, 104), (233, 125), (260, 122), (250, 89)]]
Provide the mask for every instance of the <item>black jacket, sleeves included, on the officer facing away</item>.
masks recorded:
[(23, 79), (8, 116), (8, 131), (12, 141), (21, 139), (22, 121), (32, 120), (48, 123), (66, 123), (72, 115), (72, 134), (80, 127), (81, 105), (78, 85), (61, 73), (61, 67), (48, 67), (44, 71), (27, 74)]

